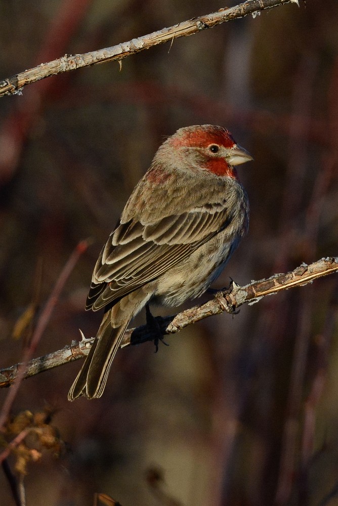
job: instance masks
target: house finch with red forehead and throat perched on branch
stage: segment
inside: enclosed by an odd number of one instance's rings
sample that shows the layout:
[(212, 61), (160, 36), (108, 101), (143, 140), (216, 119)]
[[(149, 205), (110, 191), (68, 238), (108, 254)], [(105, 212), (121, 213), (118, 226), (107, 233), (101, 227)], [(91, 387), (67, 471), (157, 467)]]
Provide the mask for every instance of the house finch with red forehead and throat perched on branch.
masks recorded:
[(181, 128), (158, 148), (96, 263), (86, 309), (105, 311), (68, 399), (101, 397), (134, 315), (177, 306), (219, 276), (248, 227), (234, 168), (250, 154), (221, 126)]

